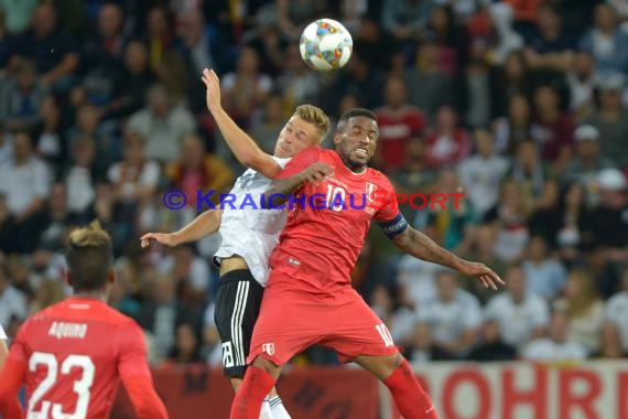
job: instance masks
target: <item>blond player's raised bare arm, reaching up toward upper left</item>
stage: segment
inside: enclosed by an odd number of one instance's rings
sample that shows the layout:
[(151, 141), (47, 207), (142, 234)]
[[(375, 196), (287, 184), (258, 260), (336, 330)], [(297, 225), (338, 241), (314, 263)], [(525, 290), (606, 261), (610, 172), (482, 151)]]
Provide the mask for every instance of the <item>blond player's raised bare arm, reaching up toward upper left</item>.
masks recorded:
[(213, 69), (203, 71), (203, 83), (207, 88), (207, 109), (216, 120), (227, 146), (240, 163), (251, 168), (269, 179), (274, 179), (281, 166), (274, 159), (262, 151), (259, 146), (229, 117), (220, 105), (220, 80)]

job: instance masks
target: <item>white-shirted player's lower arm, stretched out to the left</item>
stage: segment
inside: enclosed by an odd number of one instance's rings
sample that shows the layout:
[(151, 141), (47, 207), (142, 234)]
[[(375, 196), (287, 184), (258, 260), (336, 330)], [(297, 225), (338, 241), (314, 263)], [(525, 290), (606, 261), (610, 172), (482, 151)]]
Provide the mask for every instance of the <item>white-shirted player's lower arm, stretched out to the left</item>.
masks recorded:
[(223, 210), (208, 210), (199, 214), (192, 223), (174, 233), (147, 233), (140, 237), (142, 247), (154, 240), (161, 245), (174, 247), (184, 243), (196, 241), (214, 234), (220, 228)]

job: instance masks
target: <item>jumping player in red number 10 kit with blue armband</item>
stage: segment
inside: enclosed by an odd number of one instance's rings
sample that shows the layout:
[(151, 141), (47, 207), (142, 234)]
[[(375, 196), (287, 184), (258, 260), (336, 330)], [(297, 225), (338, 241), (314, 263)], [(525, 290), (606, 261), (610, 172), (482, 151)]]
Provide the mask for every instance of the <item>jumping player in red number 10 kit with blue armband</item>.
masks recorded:
[[(335, 151), (303, 151), (267, 192), (273, 206), (295, 192), (296, 207), (269, 261), (272, 271), (253, 331), (251, 366), (231, 419), (258, 418), (281, 366), (316, 343), (382, 380), (405, 419), (437, 417), (388, 329), (351, 288), (350, 272), (370, 222), (378, 222), (394, 245), (412, 256), (474, 276), (495, 290), (504, 281), (485, 265), (456, 257), (408, 225), (386, 175), (367, 168), (378, 136), (370, 110), (348, 111), (338, 121)], [(308, 166), (317, 171), (305, 171)]]

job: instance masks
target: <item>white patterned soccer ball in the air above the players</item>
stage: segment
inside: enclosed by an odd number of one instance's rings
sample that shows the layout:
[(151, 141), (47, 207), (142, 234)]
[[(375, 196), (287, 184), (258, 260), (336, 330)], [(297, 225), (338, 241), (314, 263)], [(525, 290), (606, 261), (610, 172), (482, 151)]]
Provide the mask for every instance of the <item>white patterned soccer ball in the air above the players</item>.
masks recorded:
[(303, 30), (299, 47), (310, 67), (329, 72), (347, 64), (354, 51), (354, 41), (340, 22), (318, 19)]

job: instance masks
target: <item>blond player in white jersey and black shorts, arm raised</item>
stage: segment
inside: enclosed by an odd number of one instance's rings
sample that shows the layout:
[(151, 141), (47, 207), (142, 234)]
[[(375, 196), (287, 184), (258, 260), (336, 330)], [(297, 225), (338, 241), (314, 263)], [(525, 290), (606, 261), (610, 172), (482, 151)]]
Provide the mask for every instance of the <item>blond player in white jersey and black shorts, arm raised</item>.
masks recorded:
[[(251, 169), (237, 179), (230, 191), (231, 204), (223, 205), (224, 210), (206, 211), (175, 233), (148, 233), (141, 237), (141, 243), (142, 247), (149, 246), (151, 240), (176, 246), (198, 240), (219, 228), (223, 241), (214, 256), (220, 268), (215, 320), (223, 343), (225, 375), (238, 390), (269, 276), (268, 259), (279, 243), (286, 217), (285, 210), (261, 210), (260, 195), (293, 155), (323, 141), (329, 130), (329, 118), (317, 107), (299, 106), (277, 139), (274, 155), (269, 155), (220, 106), (220, 85), (216, 74), (205, 71), (203, 82), (207, 87), (207, 108), (223, 137), (238, 160)], [(242, 205), (245, 200), (255, 204)], [(289, 418), (274, 390), (272, 395), (269, 400), (272, 415), (266, 417)]]

